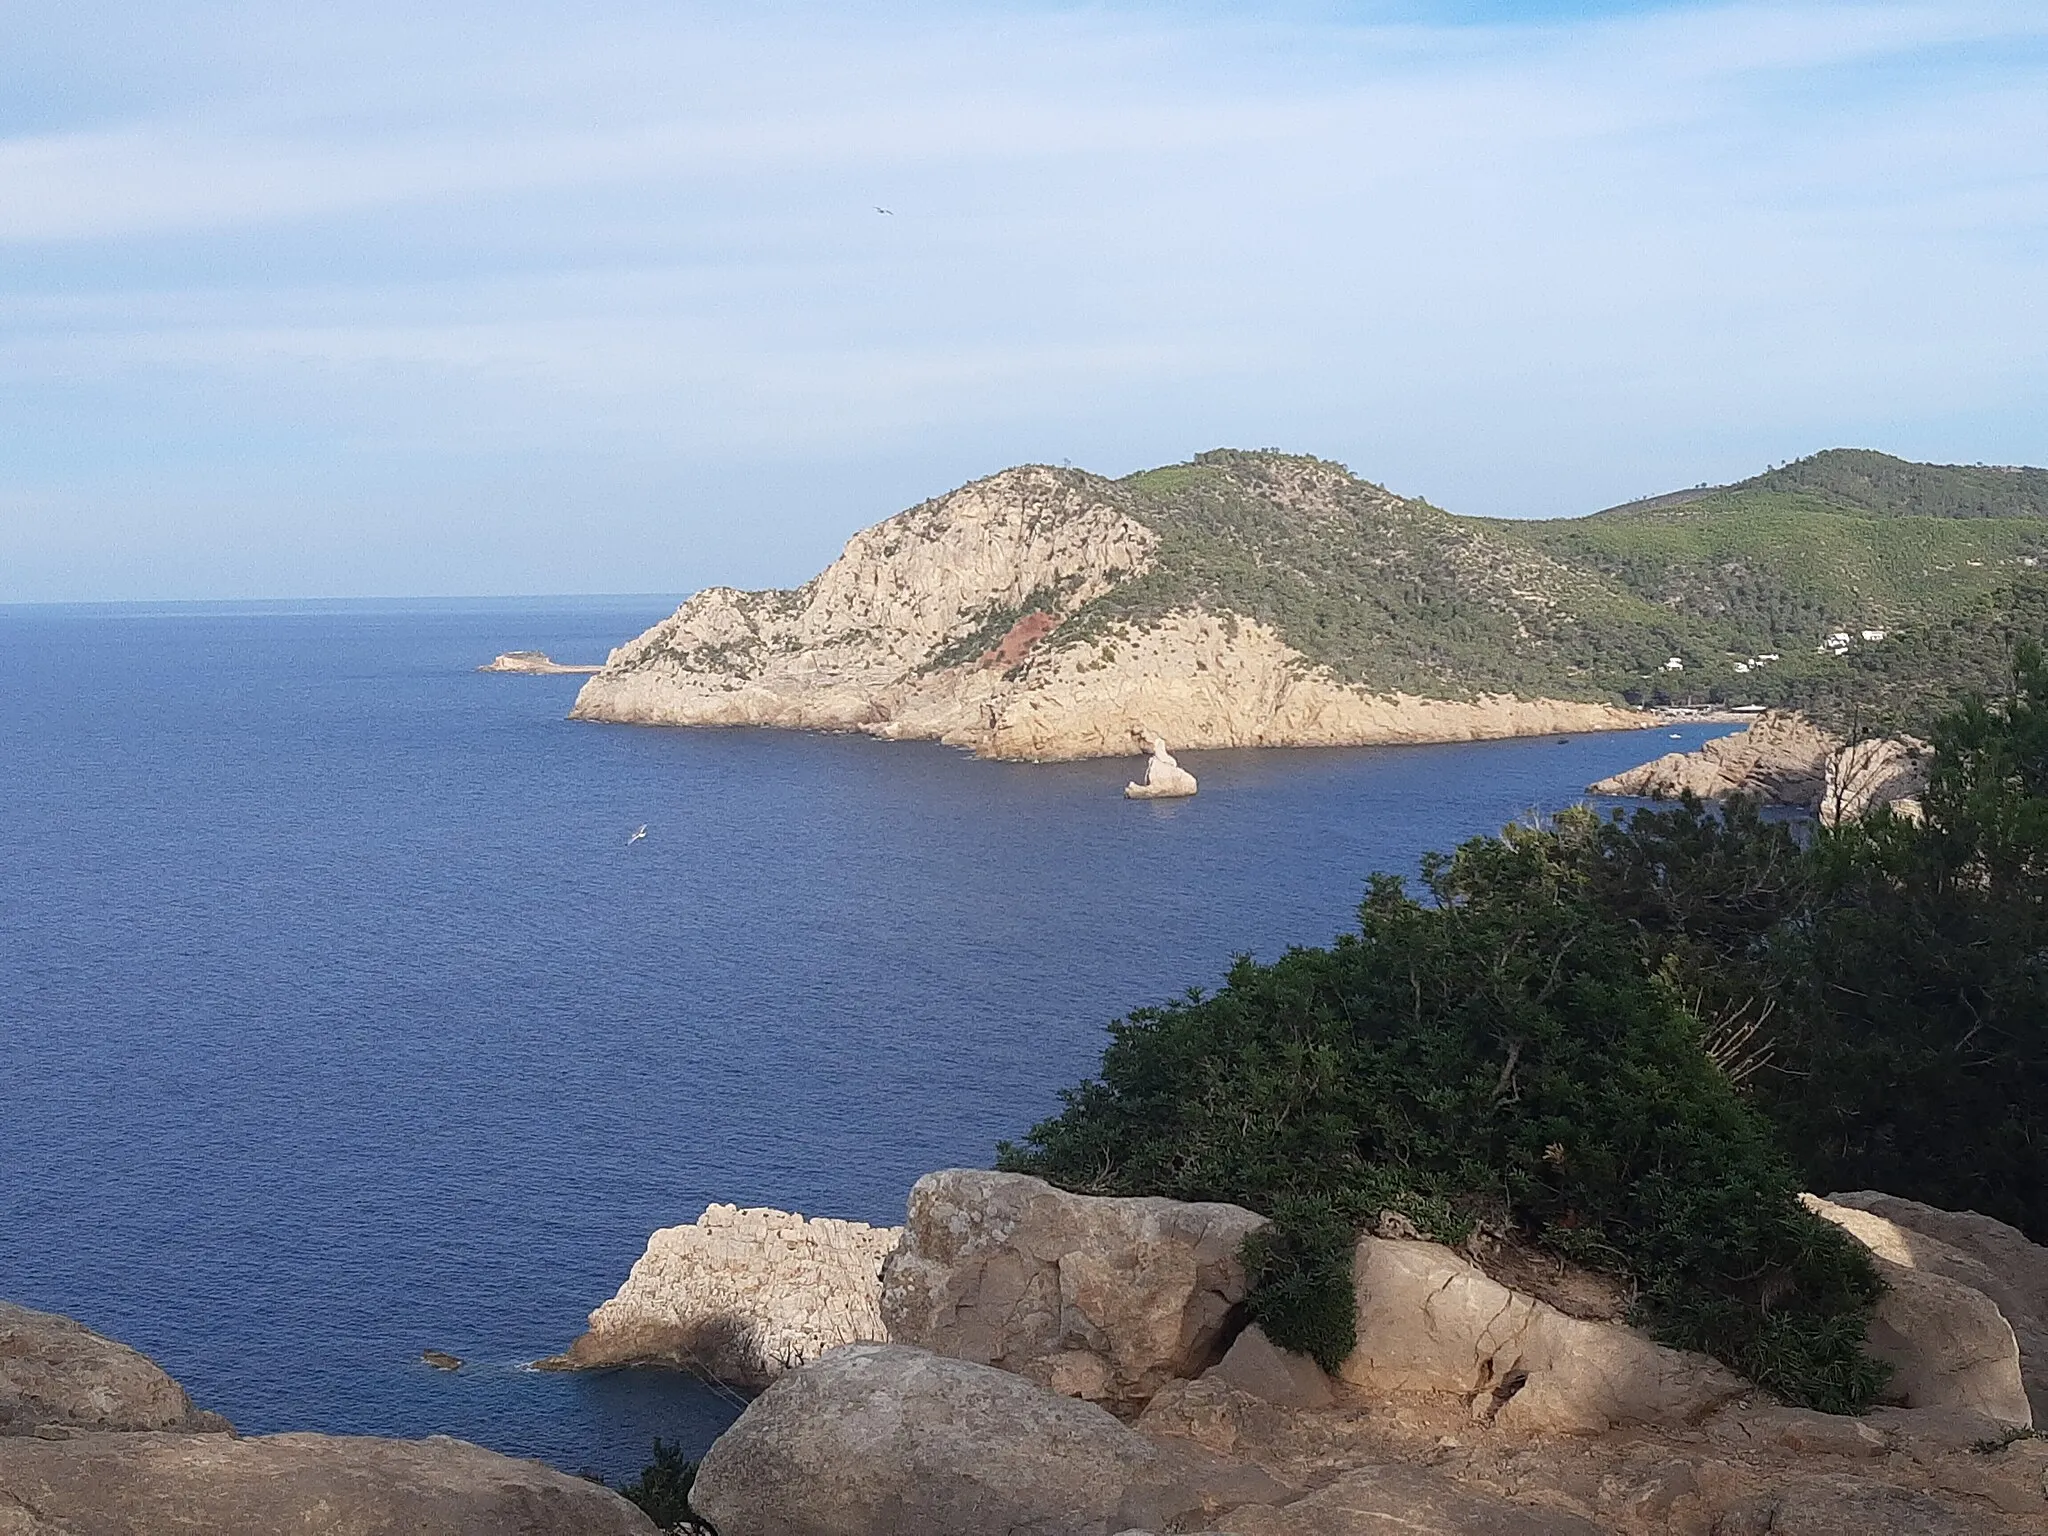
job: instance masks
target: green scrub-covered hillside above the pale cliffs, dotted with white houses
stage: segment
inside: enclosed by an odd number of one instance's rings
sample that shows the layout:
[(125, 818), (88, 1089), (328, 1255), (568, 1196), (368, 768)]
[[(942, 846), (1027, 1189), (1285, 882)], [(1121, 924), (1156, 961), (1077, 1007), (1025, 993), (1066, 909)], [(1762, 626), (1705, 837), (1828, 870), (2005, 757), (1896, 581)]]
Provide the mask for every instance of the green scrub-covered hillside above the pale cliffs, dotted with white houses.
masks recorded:
[[(1831, 451), (1548, 522), (1454, 516), (1280, 453), (1087, 479), (1159, 532), (1159, 561), (1065, 635), (1202, 604), (1370, 688), (1759, 702), (1911, 727), (1962, 686), (1995, 686), (2013, 633), (2048, 629), (2040, 469)], [(1839, 633), (1851, 641), (1829, 649)], [(1673, 655), (1683, 670), (1665, 668)]]

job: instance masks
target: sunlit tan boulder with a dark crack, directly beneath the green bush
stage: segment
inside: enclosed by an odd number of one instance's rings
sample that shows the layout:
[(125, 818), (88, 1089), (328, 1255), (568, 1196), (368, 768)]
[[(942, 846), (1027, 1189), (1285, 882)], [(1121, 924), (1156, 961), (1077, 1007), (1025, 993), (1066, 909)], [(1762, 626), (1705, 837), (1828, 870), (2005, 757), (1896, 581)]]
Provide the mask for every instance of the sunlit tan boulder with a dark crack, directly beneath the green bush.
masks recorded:
[(1509, 1430), (1681, 1425), (1751, 1391), (1714, 1360), (1622, 1323), (1567, 1317), (1440, 1243), (1362, 1237), (1358, 1346), (1339, 1376), (1374, 1393), (1460, 1393)]

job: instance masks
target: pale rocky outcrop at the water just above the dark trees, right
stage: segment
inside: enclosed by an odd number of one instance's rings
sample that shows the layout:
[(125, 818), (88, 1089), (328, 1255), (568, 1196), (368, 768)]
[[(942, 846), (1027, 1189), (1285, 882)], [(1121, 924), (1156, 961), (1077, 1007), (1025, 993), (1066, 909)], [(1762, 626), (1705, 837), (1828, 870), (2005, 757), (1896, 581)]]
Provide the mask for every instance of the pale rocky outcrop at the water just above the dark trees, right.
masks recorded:
[(1718, 801), (1749, 795), (1765, 805), (1812, 811), (1825, 823), (1851, 821), (1874, 805), (1919, 815), (1927, 788), (1927, 745), (1913, 737), (1843, 743), (1804, 715), (1772, 711), (1747, 731), (1722, 735), (1698, 752), (1667, 752), (1655, 762), (1589, 784), (1591, 795)]

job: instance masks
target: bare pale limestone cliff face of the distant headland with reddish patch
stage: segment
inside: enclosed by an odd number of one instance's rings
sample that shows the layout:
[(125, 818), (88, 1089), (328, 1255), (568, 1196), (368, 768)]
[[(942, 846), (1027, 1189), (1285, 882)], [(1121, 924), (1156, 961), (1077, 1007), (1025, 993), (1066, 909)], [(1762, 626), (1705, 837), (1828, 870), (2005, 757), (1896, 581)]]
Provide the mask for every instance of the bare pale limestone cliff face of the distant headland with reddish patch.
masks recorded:
[(1124, 756), (1149, 737), (1366, 745), (1645, 723), (1610, 705), (1374, 694), (1200, 604), (1069, 627), (1157, 549), (1112, 481), (1010, 469), (854, 535), (793, 592), (698, 592), (612, 651), (573, 717), (858, 729), (1024, 760)]

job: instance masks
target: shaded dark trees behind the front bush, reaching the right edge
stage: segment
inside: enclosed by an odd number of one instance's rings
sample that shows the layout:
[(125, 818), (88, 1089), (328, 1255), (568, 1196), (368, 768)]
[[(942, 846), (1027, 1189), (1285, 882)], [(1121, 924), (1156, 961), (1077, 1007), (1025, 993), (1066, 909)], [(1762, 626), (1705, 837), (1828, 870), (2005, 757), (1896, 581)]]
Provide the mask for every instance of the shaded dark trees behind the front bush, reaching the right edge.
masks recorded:
[(1647, 973), (1757, 1026), (1751, 1102), (1815, 1190), (1980, 1210), (2048, 1243), (2048, 662), (1933, 731), (1925, 821), (1731, 801), (1548, 834)]

